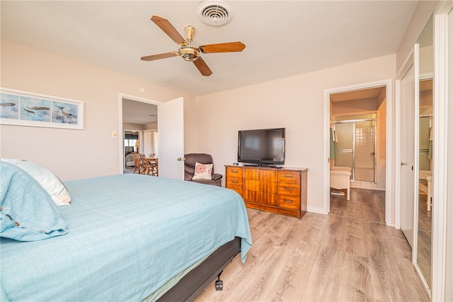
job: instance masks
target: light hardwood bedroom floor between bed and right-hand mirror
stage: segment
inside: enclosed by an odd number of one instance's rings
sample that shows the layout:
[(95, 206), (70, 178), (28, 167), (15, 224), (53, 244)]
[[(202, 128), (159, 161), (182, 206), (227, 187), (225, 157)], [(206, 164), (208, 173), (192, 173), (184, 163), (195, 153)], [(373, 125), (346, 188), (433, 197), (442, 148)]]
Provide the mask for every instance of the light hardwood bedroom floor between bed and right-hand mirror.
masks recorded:
[(253, 246), (195, 301), (429, 301), (401, 231), (384, 223), (247, 209)]

